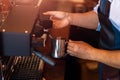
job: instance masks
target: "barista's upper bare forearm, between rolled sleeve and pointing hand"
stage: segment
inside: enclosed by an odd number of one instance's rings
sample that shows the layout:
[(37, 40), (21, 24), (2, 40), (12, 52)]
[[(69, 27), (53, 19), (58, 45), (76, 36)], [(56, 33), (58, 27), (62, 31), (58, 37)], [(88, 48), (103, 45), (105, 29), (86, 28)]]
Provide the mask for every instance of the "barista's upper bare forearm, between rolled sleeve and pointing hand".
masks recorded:
[(88, 29), (96, 29), (98, 25), (98, 16), (95, 12), (70, 13), (70, 25), (76, 25)]

